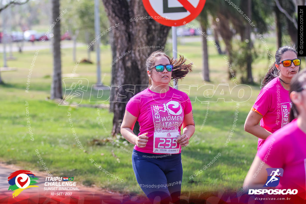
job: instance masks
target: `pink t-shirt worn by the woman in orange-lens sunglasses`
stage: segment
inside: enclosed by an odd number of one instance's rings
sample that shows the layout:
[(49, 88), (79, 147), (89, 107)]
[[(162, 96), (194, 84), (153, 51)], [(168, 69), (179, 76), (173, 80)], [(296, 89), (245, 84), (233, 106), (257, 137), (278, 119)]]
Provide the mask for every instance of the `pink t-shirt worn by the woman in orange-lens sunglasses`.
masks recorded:
[[(282, 87), (278, 77), (271, 80), (260, 90), (253, 108), (263, 115), (260, 126), (271, 133), (288, 124), (291, 108), (289, 91)], [(260, 149), (264, 141), (258, 139), (257, 150)]]

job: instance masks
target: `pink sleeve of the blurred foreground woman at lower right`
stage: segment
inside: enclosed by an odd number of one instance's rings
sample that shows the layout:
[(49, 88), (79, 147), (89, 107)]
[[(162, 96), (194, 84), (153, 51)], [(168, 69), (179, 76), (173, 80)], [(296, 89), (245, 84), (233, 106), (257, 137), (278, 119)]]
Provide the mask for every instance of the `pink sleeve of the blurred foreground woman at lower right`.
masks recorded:
[(266, 139), (256, 155), (272, 168), (282, 168), (286, 160), (284, 154), (286, 143), (285, 139), (272, 134)]

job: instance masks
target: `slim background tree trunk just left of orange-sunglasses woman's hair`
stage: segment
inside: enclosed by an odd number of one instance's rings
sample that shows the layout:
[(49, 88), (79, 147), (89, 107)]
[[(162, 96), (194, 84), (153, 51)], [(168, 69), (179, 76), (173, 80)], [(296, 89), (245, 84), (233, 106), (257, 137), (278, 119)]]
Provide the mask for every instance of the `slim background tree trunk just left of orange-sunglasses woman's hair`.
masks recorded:
[[(248, 6), (247, 6), (247, 15), (248, 17), (250, 18), (250, 20), (252, 20), (252, 0), (248, 0), (247, 2)], [(248, 44), (247, 44), (247, 59), (246, 59), (246, 62), (247, 62), (247, 80), (248, 80), (248, 83), (253, 83), (253, 76), (252, 76), (252, 47), (253, 47), (253, 44), (252, 44), (252, 39), (251, 39), (251, 25), (248, 23), (247, 24), (247, 27), (246, 27), (246, 39), (249, 40)]]

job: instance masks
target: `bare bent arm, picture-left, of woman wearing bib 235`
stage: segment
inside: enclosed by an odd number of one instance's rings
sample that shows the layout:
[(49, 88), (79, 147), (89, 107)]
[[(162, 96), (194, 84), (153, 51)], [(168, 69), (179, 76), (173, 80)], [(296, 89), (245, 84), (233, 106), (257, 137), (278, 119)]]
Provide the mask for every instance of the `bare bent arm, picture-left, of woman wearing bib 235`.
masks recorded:
[(146, 146), (148, 137), (146, 136), (148, 133), (144, 133), (142, 135), (135, 135), (132, 131), (134, 125), (137, 121), (137, 117), (133, 116), (129, 111), (125, 110), (124, 117), (121, 123), (120, 132), (122, 136), (128, 140), (132, 144), (136, 144), (137, 147), (143, 148)]

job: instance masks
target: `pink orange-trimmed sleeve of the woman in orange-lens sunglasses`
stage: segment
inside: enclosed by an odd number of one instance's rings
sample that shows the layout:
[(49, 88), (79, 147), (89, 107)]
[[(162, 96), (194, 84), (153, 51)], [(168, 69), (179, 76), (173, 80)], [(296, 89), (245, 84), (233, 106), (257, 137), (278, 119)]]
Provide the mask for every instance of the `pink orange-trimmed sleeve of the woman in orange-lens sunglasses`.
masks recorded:
[(271, 105), (271, 95), (267, 89), (261, 89), (259, 95), (253, 105), (253, 108), (256, 109), (261, 115), (266, 115)]

